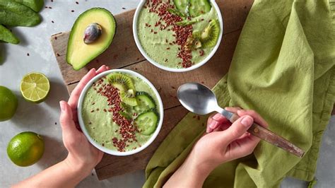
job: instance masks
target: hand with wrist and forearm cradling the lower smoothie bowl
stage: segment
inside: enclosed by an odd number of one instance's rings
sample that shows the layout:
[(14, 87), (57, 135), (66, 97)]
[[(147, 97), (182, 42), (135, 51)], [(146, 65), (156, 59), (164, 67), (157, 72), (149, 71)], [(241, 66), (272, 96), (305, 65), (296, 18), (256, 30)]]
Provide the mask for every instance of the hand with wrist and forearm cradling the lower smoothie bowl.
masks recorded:
[(108, 69), (108, 66), (105, 65), (101, 66), (98, 71), (90, 69), (72, 91), (69, 102), (59, 102), (63, 142), (69, 151), (66, 159), (13, 187), (75, 187), (100, 162), (102, 151), (92, 146), (85, 135), (78, 130), (77, 105), (79, 95), (88, 81)]

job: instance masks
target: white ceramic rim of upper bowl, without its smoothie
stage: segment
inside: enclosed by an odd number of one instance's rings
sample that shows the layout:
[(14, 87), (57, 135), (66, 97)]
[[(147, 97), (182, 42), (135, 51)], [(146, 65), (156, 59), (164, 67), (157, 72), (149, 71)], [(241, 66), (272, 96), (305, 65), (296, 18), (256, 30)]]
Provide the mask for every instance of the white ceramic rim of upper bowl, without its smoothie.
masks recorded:
[(220, 23), (220, 35), (218, 37), (218, 42), (216, 43), (215, 47), (213, 47), (213, 50), (211, 51), (211, 53), (209, 53), (208, 56), (204, 60), (202, 60), (199, 63), (197, 63), (197, 64), (195, 64), (193, 66), (190, 66), (188, 68), (177, 69), (177, 68), (170, 68), (170, 67), (158, 64), (158, 62), (156, 62), (153, 59), (151, 59), (151, 57), (149, 57), (148, 54), (146, 54), (146, 51), (143, 49), (143, 47), (141, 45), (141, 42), (139, 41), (139, 35), (137, 35), (137, 20), (139, 20), (139, 13), (140, 13), (143, 5), (146, 3), (146, 0), (141, 0), (141, 2), (139, 3), (139, 6), (137, 6), (137, 8), (136, 8), (135, 15), (134, 15), (134, 20), (133, 20), (133, 35), (134, 35), (134, 40), (135, 40), (136, 46), (139, 48), (139, 51), (141, 52), (141, 54), (143, 55), (143, 57), (145, 57), (154, 66), (157, 66), (158, 68), (163, 69), (165, 71), (172, 71), (172, 72), (191, 71), (191, 70), (194, 70), (194, 69), (199, 68), (200, 66), (206, 64), (206, 62), (209, 59), (211, 59), (211, 57), (213, 57), (213, 55), (215, 54), (216, 50), (218, 49), (218, 46), (221, 43), (221, 39), (222, 39), (222, 35), (223, 35), (223, 19), (222, 19), (222, 16), (221, 16), (220, 8), (218, 8), (218, 4), (216, 4), (215, 0), (209, 0), (209, 1), (211, 2), (211, 4), (213, 5), (213, 8), (215, 8), (216, 12), (218, 13), (218, 22)]

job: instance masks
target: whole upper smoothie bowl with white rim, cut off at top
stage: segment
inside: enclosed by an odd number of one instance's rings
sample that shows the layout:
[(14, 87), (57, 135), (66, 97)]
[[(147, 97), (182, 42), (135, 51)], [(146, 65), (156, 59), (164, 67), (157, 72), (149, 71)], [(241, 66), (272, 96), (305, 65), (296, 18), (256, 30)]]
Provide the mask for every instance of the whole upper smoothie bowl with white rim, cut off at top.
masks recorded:
[(133, 34), (151, 64), (166, 71), (191, 71), (215, 54), (223, 19), (214, 0), (142, 0)]

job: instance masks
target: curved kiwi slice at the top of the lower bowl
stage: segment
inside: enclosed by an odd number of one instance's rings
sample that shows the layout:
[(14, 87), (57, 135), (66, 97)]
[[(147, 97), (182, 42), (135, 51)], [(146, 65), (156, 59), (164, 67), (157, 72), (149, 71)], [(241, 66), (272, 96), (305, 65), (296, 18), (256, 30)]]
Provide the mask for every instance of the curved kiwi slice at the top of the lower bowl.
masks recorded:
[(112, 86), (119, 89), (122, 102), (131, 106), (138, 105), (135, 98), (135, 86), (129, 76), (120, 73), (112, 73), (107, 76), (107, 81), (109, 81)]

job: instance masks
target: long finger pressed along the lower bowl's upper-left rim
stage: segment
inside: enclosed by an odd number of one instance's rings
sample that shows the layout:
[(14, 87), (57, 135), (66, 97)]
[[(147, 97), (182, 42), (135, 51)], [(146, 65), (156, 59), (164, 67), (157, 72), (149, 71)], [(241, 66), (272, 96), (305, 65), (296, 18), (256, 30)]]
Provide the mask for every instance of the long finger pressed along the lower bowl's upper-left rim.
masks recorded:
[(85, 76), (83, 76), (83, 78), (81, 78), (81, 81), (79, 81), (76, 88), (74, 88), (69, 98), (69, 105), (72, 109), (77, 108), (78, 98), (79, 95), (81, 95), (81, 91), (83, 90), (84, 86), (86, 86), (88, 81), (90, 81), (90, 79), (92, 79), (95, 75), (96, 75), (95, 69), (94, 68), (90, 69), (90, 71), (88, 71), (88, 73)]

